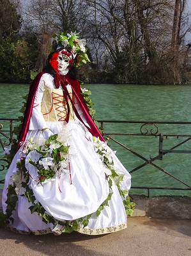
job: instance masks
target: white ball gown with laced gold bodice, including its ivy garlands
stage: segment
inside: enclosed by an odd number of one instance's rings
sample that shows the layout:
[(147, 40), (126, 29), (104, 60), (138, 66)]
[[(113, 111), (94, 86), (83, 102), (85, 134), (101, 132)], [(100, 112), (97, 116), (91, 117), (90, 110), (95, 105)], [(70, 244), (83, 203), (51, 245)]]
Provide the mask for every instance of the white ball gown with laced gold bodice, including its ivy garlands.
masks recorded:
[[(83, 123), (76, 117), (70, 102), (70, 119), (68, 123), (64, 121), (68, 99), (64, 98), (61, 87), (56, 89), (53, 77), (43, 74), (36, 90), (26, 140), (5, 177), (4, 214), (8, 212), (8, 186), (13, 187), (17, 198), (7, 228), (35, 235), (51, 232), (59, 235), (72, 230), (98, 235), (122, 230), (126, 228), (124, 202), (131, 176), (107, 144), (89, 132), (71, 86), (66, 87)], [(38, 151), (39, 146), (43, 151), (43, 145), (47, 143), (43, 128), (57, 134), (56, 140), (53, 137), (49, 141), (48, 154), (44, 157)], [(65, 145), (68, 151), (57, 167), (51, 152), (61, 145)], [(18, 166), (22, 160), (25, 173)], [(35, 162), (44, 171), (54, 170), (54, 176), (41, 176)], [(111, 170), (117, 175), (112, 175)], [(30, 193), (32, 199), (27, 196)]]

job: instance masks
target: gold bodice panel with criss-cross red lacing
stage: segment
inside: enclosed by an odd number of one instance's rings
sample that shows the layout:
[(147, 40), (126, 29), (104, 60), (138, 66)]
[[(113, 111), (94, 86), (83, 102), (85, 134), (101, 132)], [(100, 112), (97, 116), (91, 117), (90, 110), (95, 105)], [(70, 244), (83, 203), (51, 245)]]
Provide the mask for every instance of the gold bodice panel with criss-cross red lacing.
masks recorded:
[[(68, 89), (68, 92), (70, 93), (70, 97), (73, 98), (71, 88)], [(41, 111), (45, 121), (65, 121), (68, 114), (66, 100), (68, 100), (70, 106), (70, 120), (73, 120), (72, 104), (70, 99), (65, 99), (63, 89), (45, 87), (41, 105)]]

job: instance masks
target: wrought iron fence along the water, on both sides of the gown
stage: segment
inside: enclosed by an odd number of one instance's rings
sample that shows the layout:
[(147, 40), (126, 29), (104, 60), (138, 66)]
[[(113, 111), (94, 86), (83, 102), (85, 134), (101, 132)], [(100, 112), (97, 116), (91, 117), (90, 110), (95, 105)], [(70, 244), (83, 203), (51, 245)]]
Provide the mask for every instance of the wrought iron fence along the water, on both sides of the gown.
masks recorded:
[[(3, 151), (4, 148), (10, 146), (11, 141), (13, 140), (13, 126), (14, 123), (17, 122), (18, 119), (0, 119), (0, 144), (1, 144), (1, 157), (0, 157), (0, 164), (1, 164), (1, 171), (6, 171), (6, 166), (4, 165), (7, 163), (7, 160), (3, 158)], [(178, 147), (182, 146), (186, 142), (191, 140), (191, 134), (187, 133), (161, 133), (158, 128), (158, 124), (169, 124), (169, 125), (175, 125), (178, 126), (179, 124), (185, 126), (188, 125), (191, 130), (191, 122), (179, 122), (179, 121), (109, 121), (109, 120), (99, 120), (99, 123), (101, 123), (101, 126), (103, 129), (103, 135), (105, 137), (108, 137), (111, 141), (117, 143), (119, 146), (121, 146), (123, 149), (126, 149), (127, 151), (134, 154), (136, 157), (142, 159), (144, 161), (143, 164), (138, 164), (136, 167), (134, 167), (132, 170), (130, 170), (130, 173), (134, 173), (135, 171), (138, 171), (144, 166), (151, 165), (155, 168), (157, 168), (162, 173), (165, 173), (165, 175), (171, 176), (174, 180), (178, 181), (184, 187), (150, 187), (150, 186), (133, 186), (132, 189), (146, 189), (148, 191), (148, 196), (150, 195), (150, 191), (153, 189), (161, 190), (174, 190), (174, 191), (191, 191), (191, 181), (183, 182), (180, 178), (177, 178), (176, 176), (169, 173), (169, 171), (165, 170), (163, 167), (159, 166), (159, 164), (155, 164), (155, 160), (162, 160), (164, 155), (167, 153), (191, 153), (191, 150), (187, 149), (177, 149)], [(107, 123), (114, 123), (114, 124), (137, 124), (139, 126), (139, 130), (137, 132), (105, 132), (105, 124)], [(189, 129), (188, 129), (189, 130)], [(119, 142), (118, 139), (115, 139), (115, 135), (118, 136), (141, 136), (141, 137), (158, 137), (158, 154), (155, 157), (149, 157), (146, 158), (142, 154), (138, 153), (134, 149), (131, 149), (130, 147), (126, 146), (125, 144)], [(168, 137), (174, 137), (174, 138), (182, 138), (181, 142), (176, 143), (175, 145), (171, 146), (169, 149), (164, 149), (164, 139)], [(3, 183), (4, 180), (0, 179), (0, 183)]]

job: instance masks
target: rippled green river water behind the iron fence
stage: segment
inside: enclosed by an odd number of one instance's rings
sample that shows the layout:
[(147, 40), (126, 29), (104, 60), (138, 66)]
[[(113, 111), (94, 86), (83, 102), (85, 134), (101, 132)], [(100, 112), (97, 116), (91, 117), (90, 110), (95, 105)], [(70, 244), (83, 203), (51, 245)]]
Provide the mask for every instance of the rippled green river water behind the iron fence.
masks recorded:
[[(191, 121), (191, 85), (93, 84), (82, 85), (82, 88), (84, 87), (91, 90), (97, 120)], [(0, 117), (18, 117), (23, 101), (22, 96), (27, 94), (29, 85), (1, 83), (0, 90)], [(191, 134), (191, 124), (157, 124), (157, 126), (159, 133)], [(140, 133), (141, 124), (104, 124), (104, 127), (104, 132)], [(155, 127), (153, 132), (156, 132)], [(118, 139), (147, 159), (158, 154), (158, 137), (115, 135), (114, 139)], [(178, 139), (167, 137), (164, 139), (164, 148), (171, 148), (181, 141), (183, 141), (181, 137)], [(129, 171), (144, 163), (144, 160), (121, 148), (115, 142), (110, 141), (110, 145), (112, 149), (117, 150), (116, 155)], [(178, 149), (191, 150), (191, 142), (188, 141)], [(0, 153), (2, 156), (2, 150)], [(155, 164), (191, 185), (190, 153), (168, 153), (163, 160), (155, 161)], [(0, 179), (4, 174), (5, 171), (0, 173)], [(132, 173), (132, 186), (186, 187), (151, 165)], [(132, 189), (132, 193), (146, 194), (146, 191)], [(151, 191), (151, 196), (158, 194), (191, 196), (191, 191)]]

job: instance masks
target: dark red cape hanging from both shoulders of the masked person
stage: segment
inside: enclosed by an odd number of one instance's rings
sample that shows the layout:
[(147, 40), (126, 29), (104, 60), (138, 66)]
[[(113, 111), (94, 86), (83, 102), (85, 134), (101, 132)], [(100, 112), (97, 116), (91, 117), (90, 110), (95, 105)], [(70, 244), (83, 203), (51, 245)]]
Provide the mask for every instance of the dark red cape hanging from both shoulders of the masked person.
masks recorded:
[[(28, 99), (27, 99), (27, 103), (26, 103), (26, 110), (24, 112), (24, 119), (23, 119), (23, 123), (22, 123), (22, 131), (21, 131), (20, 136), (19, 136), (19, 142), (18, 142), (18, 145), (17, 145), (17, 150), (20, 147), (20, 142), (24, 142), (26, 140), (26, 135), (27, 135), (27, 132), (29, 130), (29, 123), (30, 123), (30, 119), (31, 119), (31, 113), (32, 113), (32, 110), (33, 110), (33, 103), (34, 103), (34, 98), (35, 98), (35, 95), (36, 95), (36, 90), (38, 89), (38, 84), (39, 84), (40, 78), (42, 78), (43, 74), (45, 74), (45, 72), (38, 73), (36, 78), (34, 78), (33, 83), (31, 84)], [(103, 139), (102, 133), (100, 133), (96, 124), (91, 119), (91, 115), (89, 114), (88, 106), (86, 105), (86, 103), (84, 101), (84, 98), (81, 94), (79, 81), (77, 79), (73, 79), (68, 74), (65, 75), (65, 81), (67, 81), (67, 83), (69, 83), (69, 85), (71, 85), (71, 87), (72, 87), (73, 94), (74, 94), (75, 98), (77, 99), (77, 102), (79, 103), (79, 107), (82, 109), (82, 112), (83, 112), (83, 114), (86, 118), (87, 123), (89, 124), (90, 128), (88, 126), (86, 126), (88, 128), (89, 132), (91, 132), (91, 134), (93, 136), (99, 137), (101, 141), (105, 141)]]

